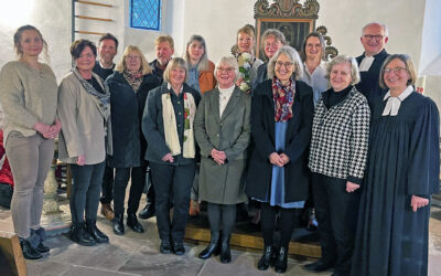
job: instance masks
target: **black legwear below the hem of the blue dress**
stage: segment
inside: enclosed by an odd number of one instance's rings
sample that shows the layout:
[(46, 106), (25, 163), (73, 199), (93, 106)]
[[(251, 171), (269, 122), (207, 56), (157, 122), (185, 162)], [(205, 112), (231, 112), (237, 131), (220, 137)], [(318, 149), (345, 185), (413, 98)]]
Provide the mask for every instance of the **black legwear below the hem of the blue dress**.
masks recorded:
[(263, 202), (260, 206), (260, 225), (263, 234), (265, 246), (273, 245), (276, 215), (280, 211), (280, 245), (288, 248), (294, 227), (300, 225), (300, 215), (302, 209), (271, 206), (269, 203)]

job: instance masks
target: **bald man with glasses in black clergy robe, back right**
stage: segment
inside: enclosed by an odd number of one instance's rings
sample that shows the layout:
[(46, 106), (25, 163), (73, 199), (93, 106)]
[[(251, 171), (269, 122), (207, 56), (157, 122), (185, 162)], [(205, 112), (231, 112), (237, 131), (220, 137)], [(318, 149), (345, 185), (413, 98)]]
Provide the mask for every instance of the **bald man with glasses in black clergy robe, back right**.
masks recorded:
[(376, 99), (385, 94), (385, 89), (379, 87), (378, 78), (383, 62), (389, 56), (385, 50), (389, 39), (387, 35), (387, 25), (373, 22), (363, 28), (362, 36), (359, 38), (365, 52), (356, 59), (362, 78), (356, 88), (365, 95), (370, 109)]

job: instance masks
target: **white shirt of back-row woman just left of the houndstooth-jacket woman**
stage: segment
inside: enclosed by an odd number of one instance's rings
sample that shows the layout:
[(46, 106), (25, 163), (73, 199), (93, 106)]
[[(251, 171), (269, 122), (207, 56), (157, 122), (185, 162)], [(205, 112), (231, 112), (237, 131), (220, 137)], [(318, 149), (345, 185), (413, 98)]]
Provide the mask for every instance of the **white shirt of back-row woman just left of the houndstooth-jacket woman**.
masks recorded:
[(304, 74), (302, 81), (312, 87), (315, 106), (319, 99), (322, 97), (322, 93), (327, 91), (329, 87), (329, 81), (326, 78), (326, 63), (324, 61), (321, 61), (319, 66), (315, 67), (312, 74), (310, 74), (310, 72), (308, 71), (306, 63), (303, 63), (303, 66)]

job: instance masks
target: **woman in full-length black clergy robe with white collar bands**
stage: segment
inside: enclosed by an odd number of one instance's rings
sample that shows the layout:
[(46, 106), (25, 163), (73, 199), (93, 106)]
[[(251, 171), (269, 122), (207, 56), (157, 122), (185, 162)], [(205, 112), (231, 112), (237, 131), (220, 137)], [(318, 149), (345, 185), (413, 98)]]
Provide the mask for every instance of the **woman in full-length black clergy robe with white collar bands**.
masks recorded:
[(409, 56), (383, 64), (386, 96), (375, 105), (352, 275), (428, 274), (430, 197), (439, 191), (439, 113), (415, 92)]

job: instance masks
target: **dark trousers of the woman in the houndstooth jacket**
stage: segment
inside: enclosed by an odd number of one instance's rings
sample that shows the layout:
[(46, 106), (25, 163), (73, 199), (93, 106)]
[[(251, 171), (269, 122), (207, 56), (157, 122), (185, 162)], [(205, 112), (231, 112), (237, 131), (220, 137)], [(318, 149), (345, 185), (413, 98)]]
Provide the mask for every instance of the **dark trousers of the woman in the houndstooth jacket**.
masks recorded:
[(357, 224), (359, 190), (346, 192), (345, 179), (312, 173), (315, 217), (319, 222), (322, 261), (348, 275)]

